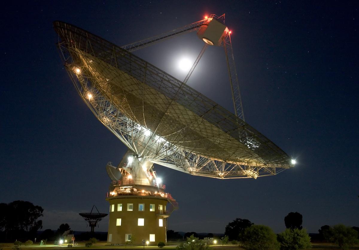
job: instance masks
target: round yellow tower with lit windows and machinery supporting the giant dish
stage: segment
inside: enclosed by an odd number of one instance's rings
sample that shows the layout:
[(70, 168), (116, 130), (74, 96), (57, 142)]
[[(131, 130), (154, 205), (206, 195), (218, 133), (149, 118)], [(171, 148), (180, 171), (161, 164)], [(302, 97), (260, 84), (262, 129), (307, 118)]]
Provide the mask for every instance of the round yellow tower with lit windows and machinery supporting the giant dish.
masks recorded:
[(149, 245), (166, 242), (167, 217), (178, 207), (165, 185), (153, 171), (153, 164), (127, 151), (117, 168), (108, 163), (112, 179), (107, 243)]

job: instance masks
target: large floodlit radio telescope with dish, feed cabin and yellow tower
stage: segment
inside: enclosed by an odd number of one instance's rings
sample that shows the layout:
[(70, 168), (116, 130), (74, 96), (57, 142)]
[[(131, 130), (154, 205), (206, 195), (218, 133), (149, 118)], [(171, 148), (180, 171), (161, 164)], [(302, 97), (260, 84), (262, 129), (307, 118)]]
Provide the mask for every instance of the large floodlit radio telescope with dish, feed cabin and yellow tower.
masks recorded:
[[(293, 167), (293, 159), (244, 121), (224, 14), (210, 15), (122, 47), (71, 24), (55, 21), (53, 25), (59, 34), (61, 57), (79, 95), (98, 120), (128, 148), (117, 168), (111, 162), (106, 166), (112, 180), (107, 200), (110, 211), (114, 212), (109, 219), (109, 243), (123, 244), (132, 239), (132, 232), (126, 233), (127, 229), (119, 233), (118, 227), (123, 227), (125, 222), (119, 216), (122, 213), (128, 220), (137, 203), (139, 212), (147, 206), (150, 212), (155, 212), (155, 217), (142, 213), (145, 218), (138, 218), (138, 226), (159, 218), (162, 231), (149, 236), (136, 231), (136, 240), (140, 242), (142, 239), (137, 237), (140, 236), (149, 237), (150, 243), (165, 241), (160, 235), (165, 238), (163, 230), (167, 223), (166, 220), (164, 226), (161, 223), (178, 204), (164, 192), (153, 164), (218, 179), (256, 179)], [(204, 47), (183, 81), (131, 53), (194, 31), (204, 41)], [(208, 46), (224, 48), (234, 114), (186, 85)], [(127, 202), (123, 209), (127, 214), (122, 210), (124, 202)], [(167, 203), (171, 209), (164, 209)], [(157, 229), (151, 227), (151, 230)]]

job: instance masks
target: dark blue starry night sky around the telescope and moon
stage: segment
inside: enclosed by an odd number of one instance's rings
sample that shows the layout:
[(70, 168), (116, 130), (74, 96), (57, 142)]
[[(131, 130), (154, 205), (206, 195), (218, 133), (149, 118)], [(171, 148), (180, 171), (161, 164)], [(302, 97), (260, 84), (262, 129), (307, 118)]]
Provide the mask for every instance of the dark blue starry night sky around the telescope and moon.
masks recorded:
[[(298, 164), (257, 180), (155, 166), (180, 204), (168, 229), (223, 233), (239, 217), (281, 232), (292, 211), (309, 232), (359, 226), (358, 9), (358, 1), (9, 1), (0, 10), (0, 202), (42, 206), (43, 230), (89, 230), (78, 213), (93, 204), (108, 213), (105, 166), (126, 148), (77, 94), (54, 20), (122, 46), (225, 13), (246, 122)], [(194, 61), (202, 46), (190, 33), (135, 54), (183, 80), (178, 61)], [(209, 47), (187, 84), (233, 112), (223, 48)]]

